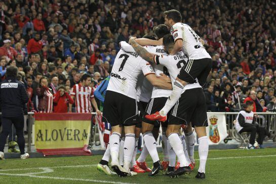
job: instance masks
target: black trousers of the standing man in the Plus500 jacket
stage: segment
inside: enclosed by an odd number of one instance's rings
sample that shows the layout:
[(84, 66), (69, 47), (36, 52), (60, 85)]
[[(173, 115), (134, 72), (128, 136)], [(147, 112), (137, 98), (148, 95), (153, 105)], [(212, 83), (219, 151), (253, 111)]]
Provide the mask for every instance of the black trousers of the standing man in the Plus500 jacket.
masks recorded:
[(25, 154), (25, 139), (24, 139), (24, 116), (18, 117), (2, 117), (2, 133), (0, 135), (0, 152), (4, 152), (7, 137), (10, 133), (11, 127), (14, 124), (17, 135), (17, 143), (21, 155)]

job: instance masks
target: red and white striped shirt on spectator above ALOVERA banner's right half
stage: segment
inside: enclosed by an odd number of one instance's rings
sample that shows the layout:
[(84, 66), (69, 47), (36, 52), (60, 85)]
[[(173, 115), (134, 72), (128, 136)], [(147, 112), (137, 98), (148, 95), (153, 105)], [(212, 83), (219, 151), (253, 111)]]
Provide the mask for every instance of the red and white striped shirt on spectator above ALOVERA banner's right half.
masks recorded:
[(82, 86), (82, 83), (75, 84), (70, 91), (74, 96), (76, 113), (90, 113), (92, 110), (91, 98), (94, 98), (94, 90), (89, 86)]

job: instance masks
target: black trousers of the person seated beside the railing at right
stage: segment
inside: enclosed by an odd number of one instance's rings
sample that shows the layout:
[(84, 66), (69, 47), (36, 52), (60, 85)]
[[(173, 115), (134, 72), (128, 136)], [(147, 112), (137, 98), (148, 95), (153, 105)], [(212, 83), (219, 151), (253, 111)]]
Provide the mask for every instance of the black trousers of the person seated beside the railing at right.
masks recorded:
[(243, 133), (243, 132), (250, 132), (249, 143), (252, 144), (252, 145), (254, 145), (254, 143), (255, 143), (256, 133), (258, 133), (257, 142), (259, 144), (263, 143), (263, 139), (264, 139), (264, 136), (266, 134), (265, 129), (263, 127), (254, 126), (254, 125), (243, 127), (243, 129), (240, 130), (239, 133)]

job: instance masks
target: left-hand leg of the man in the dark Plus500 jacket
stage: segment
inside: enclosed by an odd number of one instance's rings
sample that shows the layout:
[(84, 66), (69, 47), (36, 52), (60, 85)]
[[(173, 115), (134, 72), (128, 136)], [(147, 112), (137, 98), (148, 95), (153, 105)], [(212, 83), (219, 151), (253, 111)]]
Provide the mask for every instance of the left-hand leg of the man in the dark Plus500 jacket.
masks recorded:
[(2, 133), (0, 135), (0, 159), (4, 160), (4, 148), (7, 142), (7, 137), (10, 133), (12, 121), (10, 118), (2, 117)]

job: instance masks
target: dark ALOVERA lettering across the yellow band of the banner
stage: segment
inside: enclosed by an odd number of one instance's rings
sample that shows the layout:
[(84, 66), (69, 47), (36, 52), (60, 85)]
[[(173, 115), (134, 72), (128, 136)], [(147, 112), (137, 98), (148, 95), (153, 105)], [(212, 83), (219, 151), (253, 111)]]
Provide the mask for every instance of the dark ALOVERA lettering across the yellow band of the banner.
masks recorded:
[(81, 141), (86, 140), (87, 137), (86, 129), (44, 129), (36, 132), (36, 141)]

